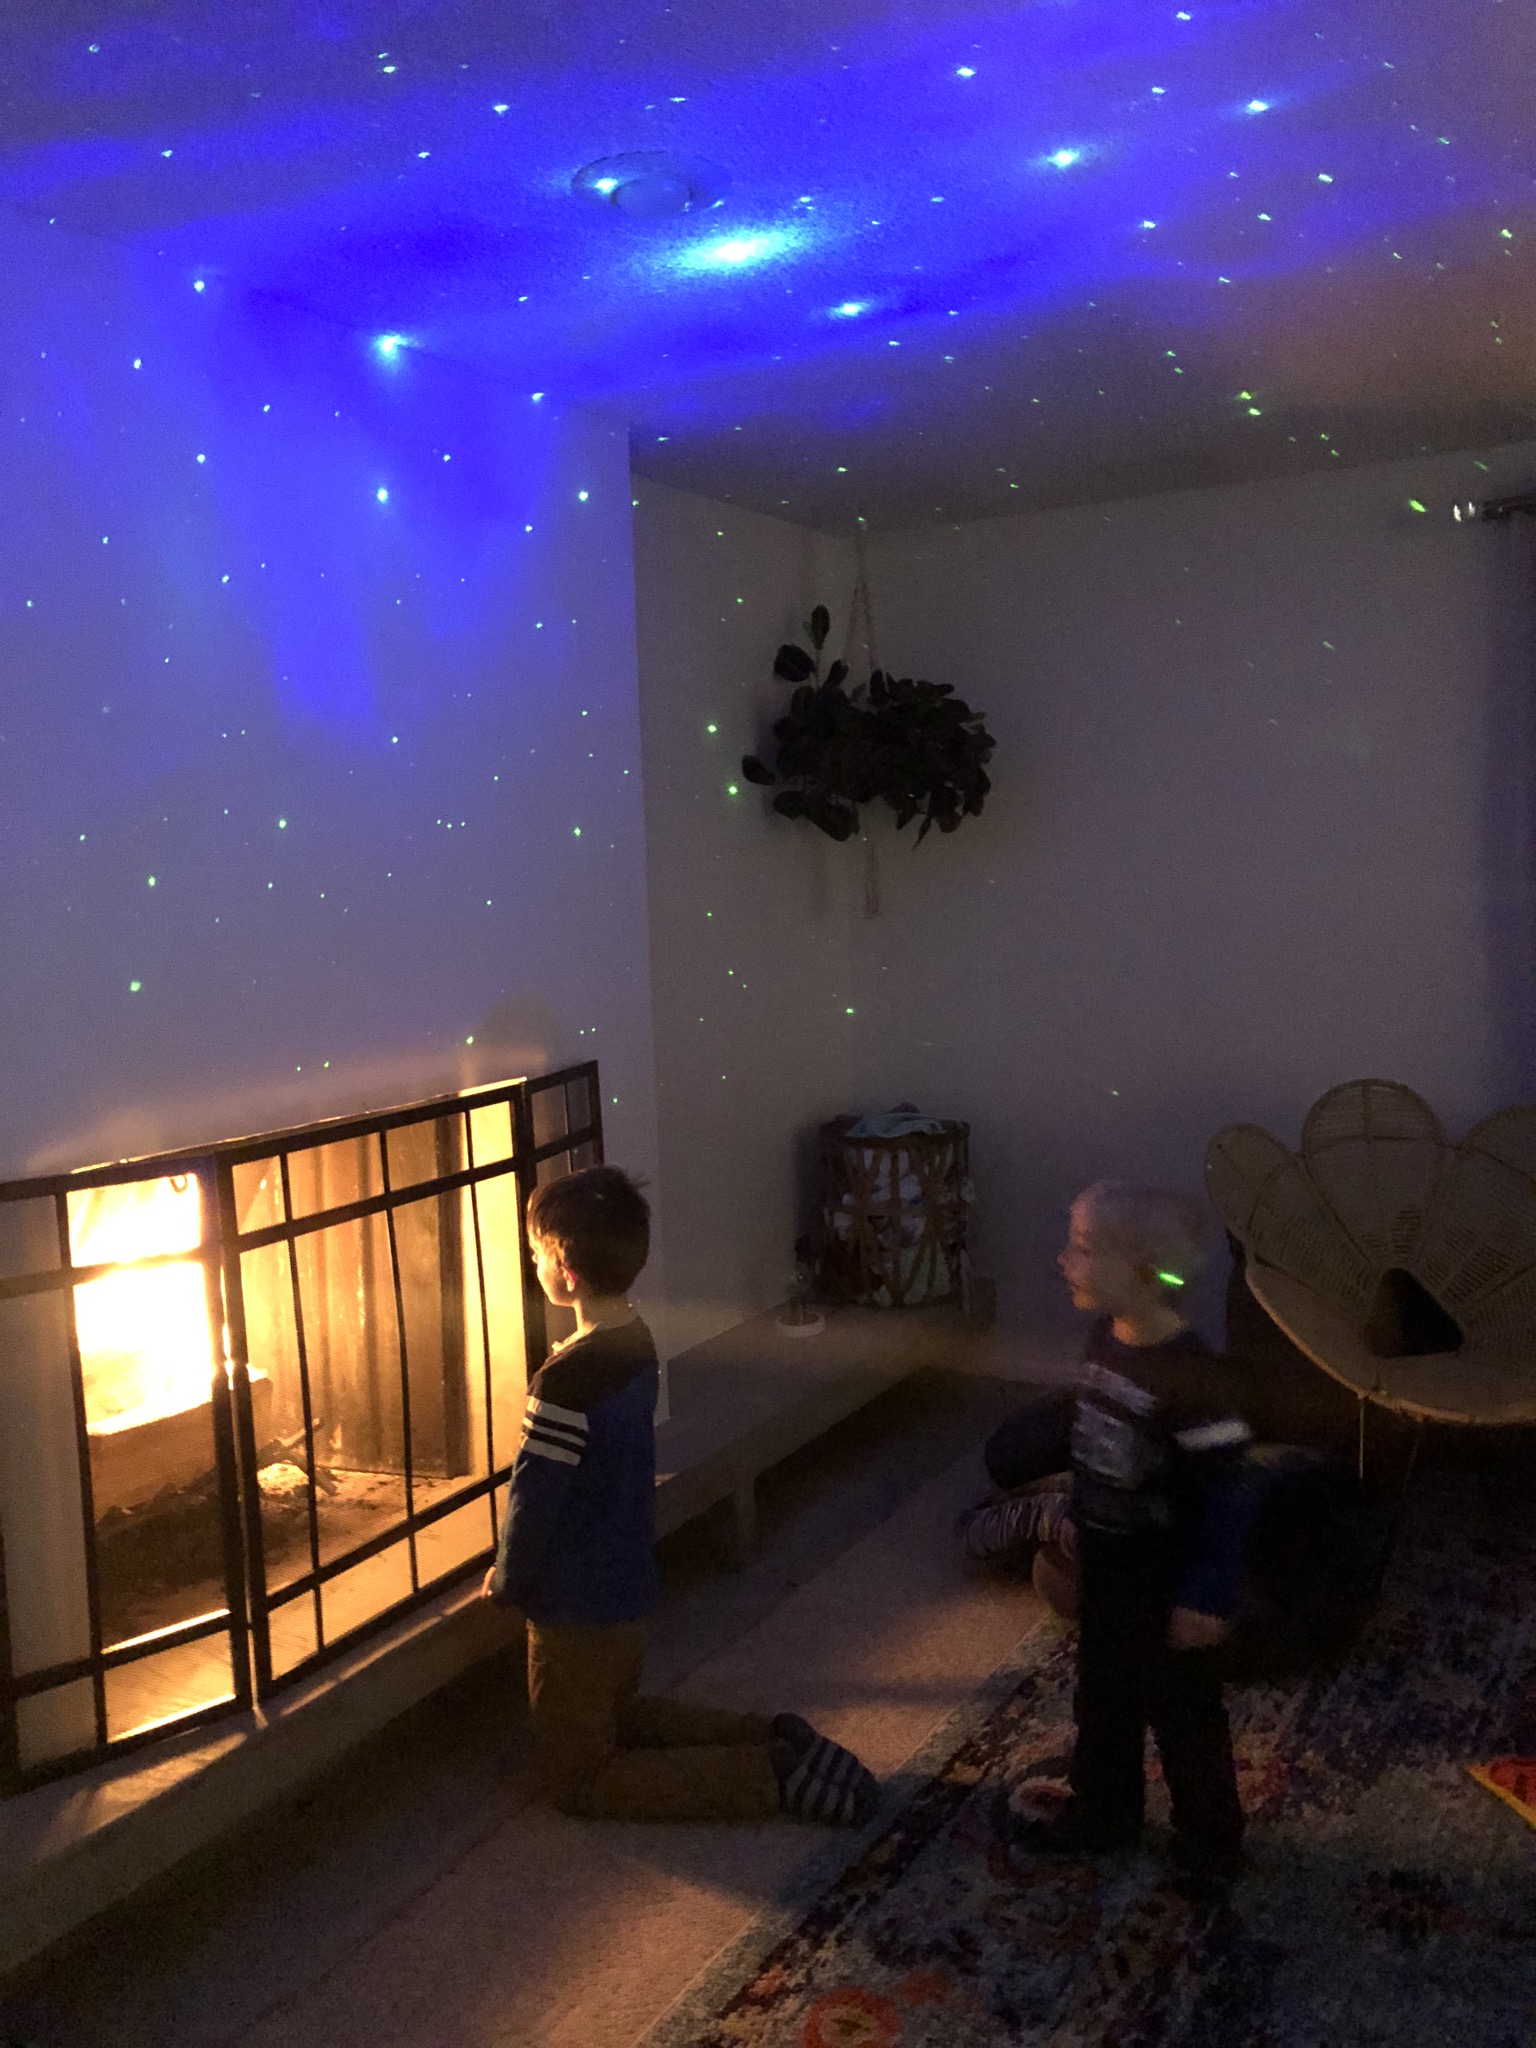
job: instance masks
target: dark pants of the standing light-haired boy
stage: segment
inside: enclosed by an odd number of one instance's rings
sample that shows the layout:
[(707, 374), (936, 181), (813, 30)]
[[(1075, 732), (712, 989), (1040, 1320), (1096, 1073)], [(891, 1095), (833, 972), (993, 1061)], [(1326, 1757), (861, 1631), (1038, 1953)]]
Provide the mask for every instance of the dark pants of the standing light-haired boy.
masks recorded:
[(1077, 1530), (1077, 1743), (1071, 1788), (1096, 1825), (1130, 1833), (1145, 1800), (1147, 1729), (1157, 1739), (1174, 1831), (1202, 1851), (1243, 1839), (1217, 1651), (1165, 1645), (1176, 1546), (1161, 1530)]

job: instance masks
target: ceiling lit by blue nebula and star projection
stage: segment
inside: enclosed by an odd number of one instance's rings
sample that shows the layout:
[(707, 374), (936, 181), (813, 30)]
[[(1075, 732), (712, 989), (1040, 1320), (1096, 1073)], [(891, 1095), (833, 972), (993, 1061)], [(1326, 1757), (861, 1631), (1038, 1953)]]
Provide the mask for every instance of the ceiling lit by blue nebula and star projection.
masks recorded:
[[(168, 0), (10, 41), (0, 199), (795, 518), (1536, 430), (1516, 0)], [(725, 197), (571, 193), (641, 152)]]

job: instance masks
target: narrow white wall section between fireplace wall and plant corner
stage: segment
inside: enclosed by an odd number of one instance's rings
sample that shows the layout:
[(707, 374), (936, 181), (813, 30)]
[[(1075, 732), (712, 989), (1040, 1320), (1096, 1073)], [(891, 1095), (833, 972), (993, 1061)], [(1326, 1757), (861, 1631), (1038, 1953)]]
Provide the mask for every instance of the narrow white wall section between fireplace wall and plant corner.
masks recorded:
[[(854, 1092), (858, 856), (741, 780), (788, 688), (774, 649), (846, 610), (846, 545), (635, 485), (635, 592), (672, 1350), (782, 1300), (815, 1126)], [(735, 795), (731, 795), (735, 786)]]

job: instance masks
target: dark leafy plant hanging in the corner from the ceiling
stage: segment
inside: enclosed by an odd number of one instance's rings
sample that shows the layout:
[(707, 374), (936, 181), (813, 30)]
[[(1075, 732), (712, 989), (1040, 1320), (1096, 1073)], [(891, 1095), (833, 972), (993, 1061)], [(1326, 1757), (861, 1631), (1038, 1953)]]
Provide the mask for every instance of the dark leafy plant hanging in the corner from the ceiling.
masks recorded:
[(821, 674), (829, 631), (831, 614), (817, 604), (805, 621), (811, 651), (786, 643), (774, 655), (774, 676), (797, 688), (774, 723), (772, 768), (748, 754), (748, 782), (780, 784), (774, 811), (805, 817), (831, 840), (852, 840), (866, 803), (889, 803), (897, 831), (920, 817), (918, 842), (934, 825), (954, 831), (961, 819), (979, 817), (997, 745), (981, 713), (946, 682), (889, 676), (883, 668), (868, 684), (846, 688), (846, 662)]

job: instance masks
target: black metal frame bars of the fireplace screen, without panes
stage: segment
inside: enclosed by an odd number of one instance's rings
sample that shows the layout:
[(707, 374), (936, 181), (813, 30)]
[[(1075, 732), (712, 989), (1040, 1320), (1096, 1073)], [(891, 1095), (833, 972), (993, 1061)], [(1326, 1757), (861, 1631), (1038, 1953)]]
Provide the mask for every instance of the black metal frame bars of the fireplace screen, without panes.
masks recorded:
[[(559, 1128), (553, 1130), (543, 1141), (539, 1139), (539, 1126), (547, 1122), (541, 1114), (545, 1098), (553, 1098), (559, 1092)], [(580, 1120), (571, 1118), (571, 1104), (584, 1098), (586, 1114)], [(512, 1153), (504, 1159), (492, 1159), (475, 1163), (473, 1155), (473, 1118), (477, 1112), (506, 1104), (510, 1118), (510, 1143)], [(463, 1165), (451, 1171), (430, 1176), (428, 1180), (410, 1182), (406, 1186), (391, 1184), (389, 1167), (389, 1145), (387, 1137), (391, 1130), (403, 1130), (414, 1124), (438, 1124), (457, 1118), (463, 1133)], [(291, 1186), (289, 1186), (289, 1163), (295, 1155), (313, 1151), (322, 1145), (336, 1145), (348, 1139), (369, 1141), (373, 1139), (379, 1147), (379, 1171), (381, 1188), (377, 1194), (369, 1194), (356, 1202), (346, 1202), (336, 1208), (313, 1210), (301, 1217), (293, 1214)], [(283, 1221), (276, 1225), (266, 1225), (256, 1231), (240, 1231), (238, 1204), (236, 1204), (236, 1169), (242, 1165), (252, 1165), (258, 1161), (281, 1161), (283, 1174)], [(487, 1266), (487, 1245), (483, 1241), (479, 1225), (479, 1190), (498, 1180), (514, 1180), (516, 1184), (516, 1260), (520, 1272), (520, 1294), (522, 1294), (522, 1331), (524, 1331), (524, 1370), (526, 1376), (532, 1374), (543, 1364), (549, 1352), (549, 1325), (545, 1319), (545, 1298), (539, 1288), (532, 1251), (526, 1233), (526, 1204), (528, 1194), (541, 1180), (541, 1167), (549, 1163), (598, 1163), (602, 1159), (602, 1094), (598, 1083), (596, 1061), (584, 1061), (573, 1067), (563, 1067), (557, 1073), (539, 1075), (535, 1079), (504, 1081), (492, 1087), (469, 1090), (467, 1094), (436, 1096), (428, 1102), (408, 1104), (395, 1110), (375, 1112), (369, 1116), (346, 1116), (330, 1118), (326, 1122), (303, 1124), (291, 1130), (264, 1133), (252, 1139), (238, 1139), (219, 1145), (199, 1147), (195, 1151), (178, 1153), (158, 1153), (145, 1159), (123, 1161), (117, 1165), (88, 1167), (78, 1174), (55, 1174), (37, 1180), (14, 1180), (0, 1182), (0, 1204), (4, 1202), (37, 1202), (51, 1200), (57, 1221), (57, 1253), (59, 1264), (41, 1272), (0, 1278), (0, 1300), (61, 1292), (66, 1305), (66, 1333), (68, 1333), (68, 1370), (70, 1370), (70, 1393), (74, 1409), (76, 1427), (76, 1462), (80, 1479), (80, 1509), (82, 1509), (82, 1534), (84, 1534), (84, 1565), (86, 1565), (86, 1608), (88, 1608), (88, 1638), (90, 1647), (84, 1657), (74, 1657), (61, 1663), (53, 1663), (35, 1671), (16, 1673), (12, 1665), (10, 1628), (8, 1628), (8, 1604), (6, 1604), (6, 1559), (4, 1559), (4, 1536), (0, 1532), (0, 1790), (20, 1790), (23, 1786), (39, 1784), (49, 1778), (59, 1778), (70, 1772), (86, 1769), (111, 1755), (121, 1755), (125, 1751), (137, 1749), (145, 1743), (154, 1743), (172, 1733), (184, 1733), (188, 1729), (203, 1726), (211, 1720), (219, 1720), (227, 1714), (250, 1710), (256, 1700), (264, 1700), (287, 1686), (301, 1681), (311, 1675), (319, 1665), (342, 1655), (352, 1645), (365, 1640), (367, 1636), (379, 1634), (397, 1622), (401, 1616), (410, 1614), (414, 1608), (424, 1606), (449, 1587), (457, 1585), (461, 1579), (475, 1571), (483, 1571), (496, 1544), (496, 1495), (508, 1483), (512, 1470), (512, 1456), (516, 1454), (516, 1444), (498, 1444), (494, 1425), (494, 1405), (489, 1395), (492, 1380), (492, 1339), (487, 1323), (487, 1294), (485, 1294), (485, 1266)], [(158, 1253), (141, 1260), (125, 1260), (113, 1264), (76, 1266), (70, 1255), (70, 1196), (80, 1194), (90, 1188), (117, 1188), (133, 1182), (164, 1180), (170, 1176), (197, 1178), (201, 1190), (201, 1214), (203, 1241), (193, 1251)], [(412, 1483), (412, 1430), (410, 1430), (410, 1354), (406, 1341), (406, 1317), (401, 1313), (401, 1274), (399, 1274), (399, 1253), (395, 1243), (395, 1212), (414, 1202), (426, 1202), (440, 1196), (457, 1194), (467, 1190), (469, 1194), (469, 1219), (473, 1235), (473, 1262), (475, 1262), (475, 1300), (481, 1315), (479, 1331), (479, 1356), (485, 1372), (485, 1470), (479, 1477), (467, 1477), (463, 1485), (453, 1487), (446, 1495), (434, 1499), (430, 1505), (418, 1509), (414, 1503), (414, 1483)], [(319, 1561), (319, 1540), (317, 1540), (317, 1520), (315, 1520), (315, 1456), (313, 1456), (313, 1401), (309, 1391), (307, 1362), (303, 1362), (303, 1303), (299, 1294), (297, 1278), (297, 1257), (295, 1245), (301, 1237), (328, 1227), (336, 1227), (348, 1221), (362, 1221), (367, 1217), (383, 1217), (385, 1233), (389, 1245), (389, 1274), (395, 1294), (395, 1331), (399, 1339), (399, 1393), (401, 1393), (401, 1415), (403, 1415), (403, 1481), (406, 1481), (406, 1513), (395, 1520), (395, 1524), (377, 1536), (367, 1538), (352, 1548), (340, 1550), (338, 1554)], [(246, 1292), (242, 1280), (242, 1253), (262, 1249), (266, 1245), (283, 1243), (289, 1247), (289, 1274), (295, 1288), (295, 1331), (301, 1356), (301, 1401), (303, 1401), (303, 1434), (305, 1434), (305, 1468), (307, 1468), (307, 1507), (309, 1507), (309, 1563), (311, 1569), (301, 1573), (297, 1579), (285, 1581), (285, 1585), (274, 1593), (268, 1587), (266, 1573), (266, 1552), (264, 1534), (260, 1518), (260, 1487), (258, 1487), (258, 1452), (256, 1427), (250, 1397), (250, 1352), (248, 1352), (248, 1331), (246, 1331)], [(205, 1272), (207, 1303), (209, 1303), (209, 1325), (217, 1333), (227, 1331), (227, 1358), (223, 1370), (215, 1368), (211, 1386), (213, 1405), (213, 1442), (215, 1442), (215, 1475), (217, 1475), (217, 1507), (219, 1507), (219, 1548), (223, 1567), (223, 1593), (225, 1606), (221, 1610), (195, 1616), (186, 1622), (174, 1622), (166, 1628), (152, 1630), (150, 1634), (129, 1638), (125, 1642), (104, 1642), (102, 1638), (102, 1604), (100, 1604), (100, 1583), (98, 1583), (98, 1556), (96, 1556), (96, 1518), (92, 1503), (92, 1477), (90, 1477), (90, 1438), (86, 1425), (86, 1395), (84, 1395), (84, 1374), (80, 1362), (80, 1339), (76, 1331), (74, 1313), (74, 1290), (86, 1280), (94, 1280), (106, 1274), (125, 1270), (145, 1270), (154, 1266), (168, 1264), (201, 1264)], [(4, 1358), (0, 1358), (0, 1372), (4, 1372)], [(485, 1546), (473, 1556), (465, 1559), (451, 1569), (424, 1579), (420, 1571), (418, 1556), (418, 1534), (430, 1528), (440, 1518), (455, 1513), (457, 1509), (473, 1503), (475, 1499), (485, 1499)], [(410, 1559), (410, 1593), (381, 1612), (369, 1616), (365, 1622), (334, 1634), (330, 1640), (324, 1632), (324, 1608), (322, 1608), (322, 1587), (326, 1581), (338, 1577), (340, 1573), (352, 1569), (367, 1559), (381, 1554), (383, 1550), (403, 1544)], [(295, 1599), (309, 1597), (313, 1602), (315, 1616), (315, 1642), (313, 1655), (289, 1665), (281, 1673), (272, 1671), (272, 1649), (270, 1649), (270, 1616), (289, 1606)], [(231, 1692), (227, 1698), (213, 1700), (195, 1710), (156, 1720), (147, 1726), (133, 1729), (127, 1735), (109, 1733), (106, 1716), (106, 1673), (119, 1669), (127, 1663), (135, 1663), (143, 1657), (156, 1657), (178, 1645), (197, 1642), (207, 1636), (225, 1636), (229, 1647), (229, 1669), (231, 1669)], [(51, 1692), (59, 1686), (68, 1686), (80, 1679), (88, 1679), (92, 1688), (94, 1706), (94, 1741), (88, 1747), (70, 1751), (68, 1755), (51, 1757), (43, 1763), (25, 1767), (20, 1763), (18, 1747), (18, 1702), (37, 1694)]]

